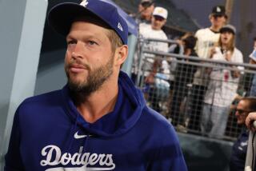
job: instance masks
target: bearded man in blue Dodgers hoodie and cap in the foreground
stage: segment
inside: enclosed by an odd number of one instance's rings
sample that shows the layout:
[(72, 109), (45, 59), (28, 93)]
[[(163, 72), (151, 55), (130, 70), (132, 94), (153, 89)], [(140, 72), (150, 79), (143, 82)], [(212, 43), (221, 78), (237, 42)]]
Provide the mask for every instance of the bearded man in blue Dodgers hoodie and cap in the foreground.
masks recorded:
[(174, 128), (120, 71), (128, 33), (117, 9), (66, 2), (48, 20), (66, 37), (68, 82), (18, 107), (5, 170), (186, 170)]

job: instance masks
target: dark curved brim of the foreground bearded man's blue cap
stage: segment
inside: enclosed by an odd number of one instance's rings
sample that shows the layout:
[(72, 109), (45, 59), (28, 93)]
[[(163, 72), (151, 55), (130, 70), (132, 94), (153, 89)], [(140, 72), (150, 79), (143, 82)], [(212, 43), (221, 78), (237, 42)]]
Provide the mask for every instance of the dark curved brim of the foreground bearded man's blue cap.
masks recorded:
[[(102, 22), (105, 22), (104, 19), (100, 18), (97, 14), (94, 14), (84, 6), (77, 3), (65, 2), (54, 6), (54, 8), (50, 10), (48, 14), (48, 22), (55, 31), (66, 36), (70, 32), (70, 26), (72, 22), (74, 22), (74, 19), (91, 15), (94, 15), (101, 19)], [(105, 23), (107, 24), (107, 22)]]

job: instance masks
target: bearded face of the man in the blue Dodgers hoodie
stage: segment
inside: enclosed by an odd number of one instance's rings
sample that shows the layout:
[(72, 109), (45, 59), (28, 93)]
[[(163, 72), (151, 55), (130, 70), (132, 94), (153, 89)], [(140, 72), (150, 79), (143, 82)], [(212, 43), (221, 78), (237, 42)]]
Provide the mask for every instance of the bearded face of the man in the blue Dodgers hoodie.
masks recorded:
[(65, 71), (70, 89), (86, 95), (98, 90), (113, 73), (114, 53), (105, 28), (74, 22), (66, 37)]

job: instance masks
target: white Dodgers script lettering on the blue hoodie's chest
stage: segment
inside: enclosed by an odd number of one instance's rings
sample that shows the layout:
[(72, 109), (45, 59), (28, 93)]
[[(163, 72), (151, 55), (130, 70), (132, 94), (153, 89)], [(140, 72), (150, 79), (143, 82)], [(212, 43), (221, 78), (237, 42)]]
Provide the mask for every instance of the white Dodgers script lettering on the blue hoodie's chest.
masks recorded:
[[(90, 170), (113, 170), (115, 168), (112, 154), (105, 153), (82, 153), (81, 146), (78, 153), (62, 153), (56, 145), (47, 145), (42, 149), (45, 160), (40, 161), (42, 166), (74, 165), (77, 167), (58, 167), (46, 169), (46, 171), (90, 171)], [(82, 165), (82, 166), (81, 166)], [(94, 165), (98, 165), (95, 167)]]

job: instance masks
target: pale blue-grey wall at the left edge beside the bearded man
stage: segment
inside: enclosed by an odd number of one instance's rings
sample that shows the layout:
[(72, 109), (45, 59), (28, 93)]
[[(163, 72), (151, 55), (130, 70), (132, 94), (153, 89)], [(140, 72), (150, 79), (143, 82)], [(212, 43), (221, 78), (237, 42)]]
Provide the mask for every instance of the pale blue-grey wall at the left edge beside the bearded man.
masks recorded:
[(34, 94), (47, 0), (0, 1), (0, 170), (14, 112)]

